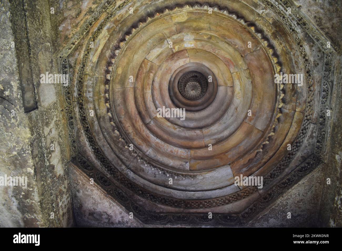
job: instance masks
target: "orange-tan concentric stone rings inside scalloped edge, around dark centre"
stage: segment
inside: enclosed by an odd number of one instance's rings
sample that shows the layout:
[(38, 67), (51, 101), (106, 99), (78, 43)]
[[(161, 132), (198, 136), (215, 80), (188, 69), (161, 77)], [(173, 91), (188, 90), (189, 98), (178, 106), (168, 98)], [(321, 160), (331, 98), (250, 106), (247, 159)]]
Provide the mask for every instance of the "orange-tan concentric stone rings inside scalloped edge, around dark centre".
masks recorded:
[[(136, 67), (130, 64), (132, 68), (122, 69), (120, 66), (127, 65), (126, 61), (130, 58), (130, 50), (124, 50), (116, 59), (117, 71), (112, 79), (116, 122), (122, 126), (128, 141), (142, 154), (153, 159), (156, 165), (171, 170), (218, 168), (250, 153), (268, 134), (277, 111), (278, 89), (273, 81), (275, 70), (267, 51), (255, 47), (254, 51), (242, 59), (241, 52), (231, 45), (232, 42), (222, 41), (218, 37), (224, 36), (222, 32), (206, 34), (201, 31), (200, 26), (198, 31), (193, 32), (191, 24), (198, 15), (205, 17), (209, 14), (189, 11), (154, 20), (149, 26), (158, 29), (155, 32), (170, 32), (171, 36), (162, 41), (159, 35), (150, 36), (150, 29), (141, 29), (139, 36), (132, 36), (126, 46), (134, 49), (134, 46), (149, 44), (146, 47), (140, 46), (141, 53), (134, 55), (135, 61), (142, 63)], [(221, 19), (222, 25), (245, 33), (242, 39), (246, 43), (249, 39), (255, 41), (255, 46), (260, 45), (251, 33), (246, 33), (245, 28), (236, 25), (235, 21), (220, 15), (215, 18)], [(181, 30), (176, 29), (177, 33), (170, 28), (174, 20), (177, 24), (182, 23)], [(216, 19), (208, 20), (209, 25), (213, 25), (210, 22)], [(233, 31), (227, 32), (230, 34)], [(235, 43), (239, 39), (241, 38), (237, 37)], [(172, 41), (172, 50), (168, 41)], [(220, 48), (225, 52), (223, 55), (217, 53)], [(263, 63), (257, 64), (255, 57)], [(245, 61), (246, 65), (241, 65), (241, 61)], [(169, 87), (166, 85), (170, 83), (173, 74), (181, 72), (179, 69), (188, 67), (189, 63), (207, 67), (213, 72), (218, 85), (217, 97), (213, 91), (215, 86), (208, 86), (206, 93), (209, 93), (208, 97), (213, 101), (205, 102), (205, 109), (199, 110), (202, 108), (202, 100), (197, 100), (196, 112), (193, 113), (186, 112), (186, 102), (193, 106), (193, 101), (185, 99), (185, 105), (174, 106), (173, 98), (177, 99), (177, 96), (170, 92), (170, 84)], [(231, 73), (229, 67), (239, 70)], [(253, 75), (254, 71), (260, 70), (263, 75)], [(188, 69), (184, 73), (187, 72)], [(180, 73), (180, 80), (184, 73)], [(134, 82), (127, 82), (132, 75), (135, 76)], [(178, 82), (176, 81), (177, 87)], [(264, 91), (265, 88), (267, 92)], [(203, 98), (205, 96), (203, 93)], [(134, 105), (131, 100), (135, 100)], [(261, 104), (263, 109), (260, 109)], [(185, 116), (175, 116), (172, 113), (175, 108), (185, 109)], [(166, 111), (165, 114), (157, 116), (159, 109)], [(248, 110), (259, 110), (260, 115), (249, 117)], [(238, 120), (234, 119), (233, 114), (239, 115)], [(249, 134), (247, 138), (246, 133)], [(208, 151), (208, 144), (212, 145), (213, 150)]]

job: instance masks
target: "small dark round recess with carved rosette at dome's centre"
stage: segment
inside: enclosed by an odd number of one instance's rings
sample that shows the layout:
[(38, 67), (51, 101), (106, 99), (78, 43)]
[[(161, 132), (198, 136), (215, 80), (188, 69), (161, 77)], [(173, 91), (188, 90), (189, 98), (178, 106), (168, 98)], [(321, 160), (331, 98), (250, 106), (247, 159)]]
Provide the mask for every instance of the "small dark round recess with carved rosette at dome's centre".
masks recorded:
[(186, 72), (178, 81), (178, 90), (183, 98), (190, 101), (198, 100), (207, 93), (207, 78), (198, 71)]

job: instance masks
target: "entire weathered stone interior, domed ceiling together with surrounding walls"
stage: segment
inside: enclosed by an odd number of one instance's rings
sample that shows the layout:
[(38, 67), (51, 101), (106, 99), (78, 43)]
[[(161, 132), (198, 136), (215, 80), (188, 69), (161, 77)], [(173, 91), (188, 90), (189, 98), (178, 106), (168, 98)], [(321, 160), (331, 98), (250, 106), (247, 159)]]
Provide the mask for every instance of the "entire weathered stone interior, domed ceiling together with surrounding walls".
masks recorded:
[(0, 187), (1, 226), (341, 226), (339, 3), (0, 7), (0, 176), (29, 187)]

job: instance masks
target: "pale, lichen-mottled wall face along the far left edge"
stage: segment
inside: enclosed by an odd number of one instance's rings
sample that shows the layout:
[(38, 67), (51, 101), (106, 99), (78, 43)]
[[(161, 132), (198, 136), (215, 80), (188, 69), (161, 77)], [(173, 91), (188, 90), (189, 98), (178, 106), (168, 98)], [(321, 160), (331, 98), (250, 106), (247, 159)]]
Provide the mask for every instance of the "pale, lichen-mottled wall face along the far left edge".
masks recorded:
[(0, 176), (27, 177), (27, 189), (0, 186), (0, 226), (38, 227), (43, 226), (43, 219), (30, 149), (32, 134), (23, 109), (15, 48), (11, 48), (14, 37), (8, 1), (1, 1), (0, 16)]

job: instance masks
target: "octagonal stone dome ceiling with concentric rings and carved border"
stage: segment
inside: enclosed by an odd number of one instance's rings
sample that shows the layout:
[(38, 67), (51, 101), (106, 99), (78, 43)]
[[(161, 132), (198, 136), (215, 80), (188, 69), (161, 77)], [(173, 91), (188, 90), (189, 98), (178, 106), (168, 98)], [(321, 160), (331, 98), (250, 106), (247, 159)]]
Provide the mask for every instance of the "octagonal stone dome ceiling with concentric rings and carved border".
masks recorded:
[(325, 151), (334, 51), (288, 6), (104, 2), (61, 52), (74, 164), (144, 223), (248, 223)]

